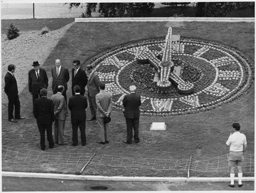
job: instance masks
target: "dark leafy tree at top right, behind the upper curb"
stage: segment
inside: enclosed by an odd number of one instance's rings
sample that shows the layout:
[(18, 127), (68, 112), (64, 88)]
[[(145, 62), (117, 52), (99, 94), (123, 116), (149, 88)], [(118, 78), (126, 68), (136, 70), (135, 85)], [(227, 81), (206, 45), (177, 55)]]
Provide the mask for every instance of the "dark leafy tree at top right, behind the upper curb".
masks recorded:
[(195, 16), (225, 17), (234, 9), (234, 2), (198, 2)]

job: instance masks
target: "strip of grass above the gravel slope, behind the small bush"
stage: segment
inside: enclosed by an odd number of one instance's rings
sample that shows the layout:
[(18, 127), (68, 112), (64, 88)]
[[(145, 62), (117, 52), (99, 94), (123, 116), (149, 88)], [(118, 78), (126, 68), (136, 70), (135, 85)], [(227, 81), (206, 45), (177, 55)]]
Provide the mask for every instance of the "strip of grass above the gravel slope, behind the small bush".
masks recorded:
[(50, 30), (56, 30), (66, 24), (74, 22), (74, 18), (58, 18), (58, 19), (4, 19), (1, 20), (1, 32), (6, 33), (6, 28), (10, 26), (10, 23), (20, 31), (41, 30), (43, 27), (48, 27)]

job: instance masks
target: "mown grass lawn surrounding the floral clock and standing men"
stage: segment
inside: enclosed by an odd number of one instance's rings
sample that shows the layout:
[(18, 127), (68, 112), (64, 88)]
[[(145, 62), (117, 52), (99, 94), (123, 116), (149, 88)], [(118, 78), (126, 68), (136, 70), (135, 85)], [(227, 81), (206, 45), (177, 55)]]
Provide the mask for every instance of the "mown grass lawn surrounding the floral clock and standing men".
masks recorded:
[[(67, 21), (66, 21), (67, 22)], [(61, 26), (61, 24), (59, 24)], [(48, 56), (42, 67), (47, 70), (54, 66), (56, 58), (61, 59), (62, 65), (70, 71), (74, 59), (81, 60), (83, 67), (88, 59), (108, 48), (126, 42), (152, 37), (164, 37), (168, 27), (173, 28), (173, 34), (182, 37), (193, 37), (209, 41), (220, 42), (243, 52), (254, 63), (254, 23), (226, 23), (226, 22), (118, 22), (118, 23), (74, 23), (67, 30), (65, 36), (58, 42), (54, 51)], [(28, 27), (27, 27), (28, 28)], [(34, 29), (34, 28), (33, 28)], [(41, 27), (37, 28), (38, 30)], [(72, 94), (69, 81), (67, 97)], [(22, 114), (27, 118), (20, 121), (20, 125), (11, 124), (3, 112), (2, 144), (13, 148), (25, 148), (39, 151), (39, 133), (31, 109), (31, 96), (28, 88), (20, 91)], [(51, 82), (49, 83), (51, 96)], [(5, 110), (6, 112), (6, 110)], [(90, 117), (89, 109), (87, 116)], [(150, 131), (152, 121), (165, 121), (166, 131)], [(72, 128), (70, 116), (67, 117), (65, 140), (69, 145), (47, 149), (47, 152), (59, 153), (96, 153), (97, 155), (125, 156), (130, 158), (158, 158), (158, 159), (209, 159), (223, 156), (229, 152), (225, 142), (232, 130), (234, 121), (241, 124), (241, 131), (247, 136), (248, 153), (254, 153), (254, 85), (247, 94), (240, 96), (231, 103), (207, 112), (185, 116), (148, 117), (140, 118), (139, 144), (126, 145), (126, 124), (123, 113), (113, 110), (110, 124), (110, 143), (99, 145), (98, 124), (88, 121), (86, 124), (87, 145), (73, 147), (71, 144)], [(21, 137), (22, 135), (22, 137)], [(253, 163), (254, 164), (254, 163)], [(35, 171), (74, 173), (83, 166), (77, 165), (42, 165), (5, 164), (5, 171)], [(108, 166), (88, 166), (84, 174), (105, 176), (186, 176), (186, 171), (138, 169)], [(254, 176), (253, 173), (245, 174)], [(229, 176), (228, 173), (191, 173), (191, 176)]]

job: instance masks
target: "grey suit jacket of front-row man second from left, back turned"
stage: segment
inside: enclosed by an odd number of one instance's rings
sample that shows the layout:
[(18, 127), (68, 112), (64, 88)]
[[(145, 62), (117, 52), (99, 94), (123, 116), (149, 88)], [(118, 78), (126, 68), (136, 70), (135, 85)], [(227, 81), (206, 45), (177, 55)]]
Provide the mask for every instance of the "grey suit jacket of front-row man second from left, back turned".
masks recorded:
[(54, 102), (54, 115), (56, 119), (66, 120), (67, 105), (65, 97), (57, 92), (56, 94), (52, 95), (52, 102)]

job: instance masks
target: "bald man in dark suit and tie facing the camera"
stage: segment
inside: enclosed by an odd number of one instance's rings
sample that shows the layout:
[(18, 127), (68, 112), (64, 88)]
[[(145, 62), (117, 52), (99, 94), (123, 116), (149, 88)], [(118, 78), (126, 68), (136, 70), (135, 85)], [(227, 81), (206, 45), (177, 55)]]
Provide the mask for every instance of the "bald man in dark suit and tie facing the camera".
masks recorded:
[(56, 94), (58, 91), (58, 86), (63, 85), (64, 91), (62, 95), (65, 97), (65, 100), (67, 102), (67, 82), (69, 81), (69, 70), (67, 70), (65, 67), (61, 66), (61, 60), (56, 59), (55, 60), (56, 67), (52, 68), (52, 91), (54, 94)]

